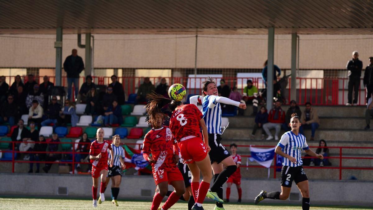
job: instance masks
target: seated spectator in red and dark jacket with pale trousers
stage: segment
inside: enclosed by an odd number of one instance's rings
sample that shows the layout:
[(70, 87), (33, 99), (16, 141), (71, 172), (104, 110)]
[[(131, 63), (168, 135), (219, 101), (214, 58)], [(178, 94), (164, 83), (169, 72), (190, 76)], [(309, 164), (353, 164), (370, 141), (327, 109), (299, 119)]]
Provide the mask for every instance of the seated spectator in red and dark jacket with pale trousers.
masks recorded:
[(279, 133), (282, 123), (285, 123), (285, 111), (281, 108), (281, 102), (276, 101), (275, 107), (269, 111), (268, 123), (263, 125), (264, 131), (267, 133), (267, 140), (273, 139), (272, 134), (269, 132), (269, 129), (276, 129), (275, 140), (279, 140)]

